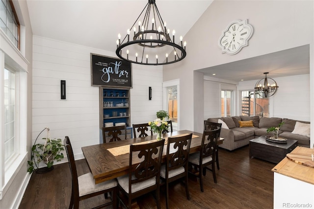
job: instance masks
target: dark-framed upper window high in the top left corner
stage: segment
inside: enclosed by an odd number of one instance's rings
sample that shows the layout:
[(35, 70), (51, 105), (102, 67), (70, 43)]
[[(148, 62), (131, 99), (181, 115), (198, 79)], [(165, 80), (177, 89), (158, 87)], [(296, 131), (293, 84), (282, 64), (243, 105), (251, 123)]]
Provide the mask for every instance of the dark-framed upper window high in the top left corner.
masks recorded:
[(0, 27), (12, 43), (20, 49), (20, 24), (12, 0), (0, 1)]

